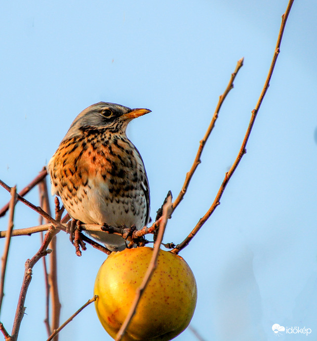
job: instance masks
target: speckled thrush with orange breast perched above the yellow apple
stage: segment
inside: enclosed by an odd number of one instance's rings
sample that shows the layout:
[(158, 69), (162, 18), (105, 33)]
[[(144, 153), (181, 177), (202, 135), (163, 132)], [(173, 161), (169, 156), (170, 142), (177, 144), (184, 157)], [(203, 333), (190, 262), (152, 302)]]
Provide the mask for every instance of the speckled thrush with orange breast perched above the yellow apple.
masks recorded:
[[(135, 225), (150, 220), (150, 188), (142, 157), (126, 136), (134, 118), (149, 109), (98, 102), (81, 111), (47, 164), (52, 195), (84, 224)], [(111, 251), (126, 247), (115, 234), (88, 234)]]

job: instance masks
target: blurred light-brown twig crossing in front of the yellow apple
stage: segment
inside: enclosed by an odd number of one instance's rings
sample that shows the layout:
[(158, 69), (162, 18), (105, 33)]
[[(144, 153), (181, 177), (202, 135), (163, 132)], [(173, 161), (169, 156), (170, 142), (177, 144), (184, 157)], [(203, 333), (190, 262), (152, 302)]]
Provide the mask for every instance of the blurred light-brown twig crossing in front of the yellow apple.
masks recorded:
[(172, 199), (171, 199), (171, 196), (169, 196), (166, 204), (163, 207), (163, 214), (160, 217), (161, 220), (160, 220), (160, 224), (159, 224), (158, 238), (154, 244), (154, 250), (153, 250), (151, 262), (148, 266), (147, 272), (144, 275), (144, 278), (142, 280), (140, 287), (136, 291), (135, 298), (134, 298), (134, 301), (132, 302), (130, 311), (129, 311), (128, 315), (126, 316), (126, 318), (125, 318), (125, 320), (124, 320), (124, 322), (123, 322), (123, 324), (122, 324), (122, 326), (121, 326), (121, 328), (120, 328), (120, 330), (116, 336), (116, 339), (115, 339), (116, 341), (122, 340), (124, 333), (126, 332), (128, 326), (131, 322), (131, 319), (132, 319), (133, 315), (135, 314), (136, 308), (137, 308), (138, 303), (142, 297), (142, 294), (143, 294), (145, 288), (147, 287), (147, 285), (148, 285), (148, 283), (152, 277), (152, 274), (154, 273), (154, 271), (157, 267), (158, 253), (160, 250), (160, 248), (159, 248), (160, 243), (163, 240), (165, 227), (166, 227), (167, 220), (169, 219), (171, 212), (172, 212)]

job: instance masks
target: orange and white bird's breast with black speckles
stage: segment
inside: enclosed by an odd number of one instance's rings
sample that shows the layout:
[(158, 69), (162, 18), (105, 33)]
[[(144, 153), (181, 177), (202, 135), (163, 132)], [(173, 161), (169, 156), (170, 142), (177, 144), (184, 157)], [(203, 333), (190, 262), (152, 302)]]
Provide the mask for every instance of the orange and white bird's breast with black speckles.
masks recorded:
[(48, 171), (52, 193), (73, 218), (139, 228), (145, 223), (145, 169), (126, 137), (86, 134), (63, 141)]

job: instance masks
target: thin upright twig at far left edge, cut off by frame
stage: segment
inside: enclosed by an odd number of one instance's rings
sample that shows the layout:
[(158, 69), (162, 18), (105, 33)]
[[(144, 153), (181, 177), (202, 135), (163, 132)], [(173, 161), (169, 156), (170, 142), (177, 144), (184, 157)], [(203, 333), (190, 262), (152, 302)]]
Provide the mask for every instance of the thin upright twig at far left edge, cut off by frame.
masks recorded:
[(5, 278), (5, 270), (6, 270), (6, 264), (8, 261), (8, 254), (9, 254), (9, 247), (10, 247), (10, 241), (11, 241), (11, 234), (13, 230), (13, 218), (14, 218), (14, 206), (16, 203), (16, 186), (11, 188), (11, 200), (9, 203), (9, 221), (8, 221), (8, 229), (6, 231), (6, 240), (3, 250), (3, 256), (1, 258), (1, 277), (0, 277), (0, 311), (2, 306), (2, 300), (4, 296), (4, 278)]

